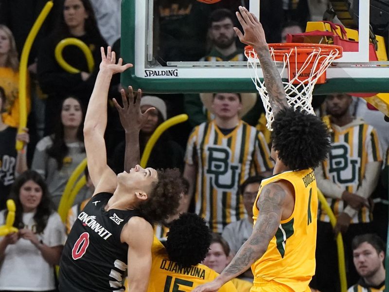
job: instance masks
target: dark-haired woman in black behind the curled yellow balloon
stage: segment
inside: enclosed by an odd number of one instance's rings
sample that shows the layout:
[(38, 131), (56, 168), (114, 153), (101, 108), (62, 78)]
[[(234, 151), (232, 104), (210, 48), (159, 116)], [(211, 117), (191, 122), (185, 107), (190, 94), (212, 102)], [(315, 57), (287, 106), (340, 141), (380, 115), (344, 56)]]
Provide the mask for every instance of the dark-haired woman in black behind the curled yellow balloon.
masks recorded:
[[(88, 71), (85, 55), (75, 46), (65, 47), (62, 55), (80, 73), (69, 73), (58, 64), (54, 56), (55, 47), (68, 37), (78, 38), (87, 44), (95, 63), (93, 72)], [(53, 35), (42, 41), (38, 55), (38, 81), (42, 90), (49, 94), (46, 103), (46, 134), (52, 132), (53, 118), (60, 110), (60, 100), (65, 96), (77, 96), (84, 106), (88, 104), (100, 61), (100, 47), (106, 46), (89, 0), (65, 0), (59, 23)]]

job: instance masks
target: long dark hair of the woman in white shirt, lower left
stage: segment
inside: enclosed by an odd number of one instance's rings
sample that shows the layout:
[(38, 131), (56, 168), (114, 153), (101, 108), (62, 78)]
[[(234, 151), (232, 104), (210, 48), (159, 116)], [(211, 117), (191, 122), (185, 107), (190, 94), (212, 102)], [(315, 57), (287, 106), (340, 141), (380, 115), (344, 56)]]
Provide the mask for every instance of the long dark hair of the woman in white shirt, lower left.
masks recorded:
[[(53, 212), (50, 208), (50, 197), (47, 185), (44, 179), (40, 176), (40, 174), (34, 170), (26, 170), (21, 175), (19, 175), (15, 182), (12, 184), (11, 192), (9, 194), (8, 199), (14, 200), (16, 205), (14, 227), (24, 228), (23, 206), (20, 202), (19, 194), (22, 185), (28, 181), (33, 181), (34, 183), (38, 184), (42, 189), (42, 198), (40, 200), (39, 205), (36, 207), (34, 215), (34, 221), (36, 223), (35, 233), (39, 234), (42, 233), (43, 230), (46, 228), (47, 220)], [(8, 210), (4, 213), (4, 220), (7, 217), (7, 214)]]

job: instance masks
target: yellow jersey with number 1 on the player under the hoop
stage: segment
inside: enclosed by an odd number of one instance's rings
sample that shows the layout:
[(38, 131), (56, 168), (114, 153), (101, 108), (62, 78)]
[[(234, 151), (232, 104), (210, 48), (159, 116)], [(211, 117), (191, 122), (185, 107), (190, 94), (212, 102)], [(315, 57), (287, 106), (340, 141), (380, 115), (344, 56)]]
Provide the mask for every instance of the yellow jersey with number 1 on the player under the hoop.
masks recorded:
[(294, 186), (295, 206), (292, 215), (281, 220), (265, 254), (251, 266), (254, 283), (273, 281), (290, 287), (291, 291), (305, 291), (315, 274), (318, 216), (315, 174), (312, 169), (286, 171), (262, 180), (252, 208), (254, 224), (259, 214), (257, 201), (263, 187), (279, 180)]

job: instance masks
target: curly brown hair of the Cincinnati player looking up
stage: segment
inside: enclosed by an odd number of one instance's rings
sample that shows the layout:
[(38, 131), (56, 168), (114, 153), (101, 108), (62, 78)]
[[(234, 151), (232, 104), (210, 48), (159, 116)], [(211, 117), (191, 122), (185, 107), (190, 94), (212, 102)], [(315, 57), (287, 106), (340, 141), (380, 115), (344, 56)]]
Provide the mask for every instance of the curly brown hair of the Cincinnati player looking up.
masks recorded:
[(147, 200), (139, 205), (144, 218), (150, 223), (163, 222), (177, 212), (179, 201), (185, 192), (180, 172), (177, 168), (159, 169), (158, 182)]

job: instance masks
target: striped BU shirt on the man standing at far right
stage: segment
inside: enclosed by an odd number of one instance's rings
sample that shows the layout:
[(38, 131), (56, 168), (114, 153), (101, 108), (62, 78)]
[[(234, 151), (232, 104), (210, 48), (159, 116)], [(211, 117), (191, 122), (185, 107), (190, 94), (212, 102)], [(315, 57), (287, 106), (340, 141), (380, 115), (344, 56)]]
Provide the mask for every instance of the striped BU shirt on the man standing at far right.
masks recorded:
[[(366, 164), (382, 161), (382, 150), (375, 129), (362, 119), (355, 119), (349, 125), (339, 128), (331, 125), (331, 150), (327, 160), (322, 163), (324, 178), (355, 193), (365, 178)], [(327, 197), (335, 216), (343, 212), (343, 200)], [(352, 218), (352, 223), (370, 222), (369, 208), (362, 207)], [(329, 222), (324, 209), (319, 207), (318, 219)]]

